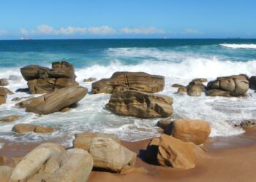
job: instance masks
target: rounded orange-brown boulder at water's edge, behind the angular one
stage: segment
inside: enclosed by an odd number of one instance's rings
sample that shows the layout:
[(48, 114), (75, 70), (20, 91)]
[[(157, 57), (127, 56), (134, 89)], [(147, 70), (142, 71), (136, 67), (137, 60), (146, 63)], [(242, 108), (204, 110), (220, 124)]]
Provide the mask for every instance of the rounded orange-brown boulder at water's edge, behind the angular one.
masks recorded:
[(199, 119), (176, 119), (170, 122), (165, 133), (181, 141), (200, 145), (206, 142), (211, 133), (211, 125)]

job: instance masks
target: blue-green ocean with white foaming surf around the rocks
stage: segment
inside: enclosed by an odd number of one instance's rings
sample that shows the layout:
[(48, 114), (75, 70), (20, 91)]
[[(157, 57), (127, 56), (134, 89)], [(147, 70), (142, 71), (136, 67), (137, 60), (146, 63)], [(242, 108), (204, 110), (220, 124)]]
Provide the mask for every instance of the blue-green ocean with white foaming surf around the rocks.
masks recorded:
[[(27, 87), (20, 68), (30, 64), (50, 67), (54, 61), (67, 60), (75, 66), (77, 81), (91, 90), (83, 79), (109, 78), (115, 71), (144, 71), (165, 76), (165, 90), (160, 94), (174, 99), (173, 117), (205, 119), (211, 124), (211, 136), (238, 135), (243, 132), (233, 124), (256, 118), (256, 92), (246, 98), (189, 97), (176, 95), (172, 84), (187, 85), (192, 79), (216, 79), (232, 74), (256, 75), (256, 39), (88, 39), (0, 41), (0, 78), (20, 76), (7, 86), (12, 92)], [(116, 116), (105, 109), (110, 95), (92, 95), (80, 100), (78, 108), (67, 113), (46, 116), (26, 113), (16, 108), (15, 97), (29, 96), (15, 92), (0, 106), (0, 116), (22, 115), (11, 123), (0, 123), (0, 139), (15, 142), (56, 140), (70, 146), (78, 132), (115, 133), (125, 141), (140, 141), (158, 136), (159, 119)], [(49, 135), (18, 135), (12, 127), (18, 123), (42, 124), (58, 130)]]

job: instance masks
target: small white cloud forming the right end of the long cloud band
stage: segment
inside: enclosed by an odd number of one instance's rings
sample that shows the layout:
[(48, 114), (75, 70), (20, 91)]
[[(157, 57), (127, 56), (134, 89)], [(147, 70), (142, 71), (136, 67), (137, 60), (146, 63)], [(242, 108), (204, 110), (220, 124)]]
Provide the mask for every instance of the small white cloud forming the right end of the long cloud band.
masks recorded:
[(120, 29), (120, 33), (125, 33), (125, 34), (154, 34), (154, 33), (165, 33), (161, 29), (157, 29), (154, 27), (149, 27), (149, 28), (128, 28), (124, 27)]

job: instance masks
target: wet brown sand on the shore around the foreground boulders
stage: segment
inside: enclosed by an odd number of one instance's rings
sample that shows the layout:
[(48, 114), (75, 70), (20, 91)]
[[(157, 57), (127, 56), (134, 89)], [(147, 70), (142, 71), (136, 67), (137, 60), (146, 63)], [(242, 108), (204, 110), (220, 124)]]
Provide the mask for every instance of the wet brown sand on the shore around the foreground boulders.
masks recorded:
[[(200, 157), (197, 166), (191, 170), (150, 165), (143, 161), (146, 146), (150, 140), (121, 143), (138, 154), (135, 167), (144, 167), (148, 173), (120, 175), (102, 171), (92, 171), (89, 182), (111, 181), (256, 181), (256, 132), (248, 130), (241, 135), (209, 138), (202, 146), (206, 155)], [(8, 143), (0, 149), (0, 156), (20, 157), (34, 149), (39, 143)]]

